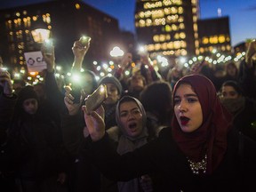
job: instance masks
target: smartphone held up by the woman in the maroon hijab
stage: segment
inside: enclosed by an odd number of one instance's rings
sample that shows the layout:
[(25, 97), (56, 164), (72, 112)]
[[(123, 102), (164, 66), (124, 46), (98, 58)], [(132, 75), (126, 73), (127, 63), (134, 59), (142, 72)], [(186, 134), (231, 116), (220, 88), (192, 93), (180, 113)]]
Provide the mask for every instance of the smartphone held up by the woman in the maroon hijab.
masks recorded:
[(107, 97), (107, 85), (100, 84), (100, 86), (85, 99), (87, 114), (90, 114), (93, 110), (99, 108)]

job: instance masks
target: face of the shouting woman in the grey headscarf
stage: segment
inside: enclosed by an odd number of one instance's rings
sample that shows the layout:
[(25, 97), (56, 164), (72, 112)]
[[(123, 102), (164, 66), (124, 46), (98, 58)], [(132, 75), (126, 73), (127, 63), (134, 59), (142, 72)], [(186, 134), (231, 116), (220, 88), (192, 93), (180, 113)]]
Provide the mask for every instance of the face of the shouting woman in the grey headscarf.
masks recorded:
[(142, 114), (134, 101), (127, 101), (120, 105), (120, 123), (130, 137), (136, 137), (142, 132)]

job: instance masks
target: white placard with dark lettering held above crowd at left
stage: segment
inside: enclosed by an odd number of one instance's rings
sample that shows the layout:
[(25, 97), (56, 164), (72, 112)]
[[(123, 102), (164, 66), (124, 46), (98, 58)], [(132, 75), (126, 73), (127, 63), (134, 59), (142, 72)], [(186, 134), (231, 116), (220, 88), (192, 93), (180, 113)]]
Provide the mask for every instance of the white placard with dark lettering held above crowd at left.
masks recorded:
[(46, 66), (42, 52), (24, 52), (28, 72), (41, 72)]

